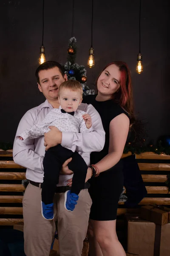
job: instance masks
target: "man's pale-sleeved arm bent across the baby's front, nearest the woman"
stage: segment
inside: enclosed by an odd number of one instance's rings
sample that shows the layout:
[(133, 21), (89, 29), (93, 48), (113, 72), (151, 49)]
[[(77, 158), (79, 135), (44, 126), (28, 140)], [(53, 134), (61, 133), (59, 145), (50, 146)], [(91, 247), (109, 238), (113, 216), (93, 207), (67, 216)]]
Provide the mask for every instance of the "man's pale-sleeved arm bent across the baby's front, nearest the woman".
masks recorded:
[(82, 152), (101, 151), (105, 145), (105, 131), (100, 115), (91, 104), (87, 105), (83, 111), (91, 116), (93, 131), (86, 133), (63, 131), (61, 145)]

